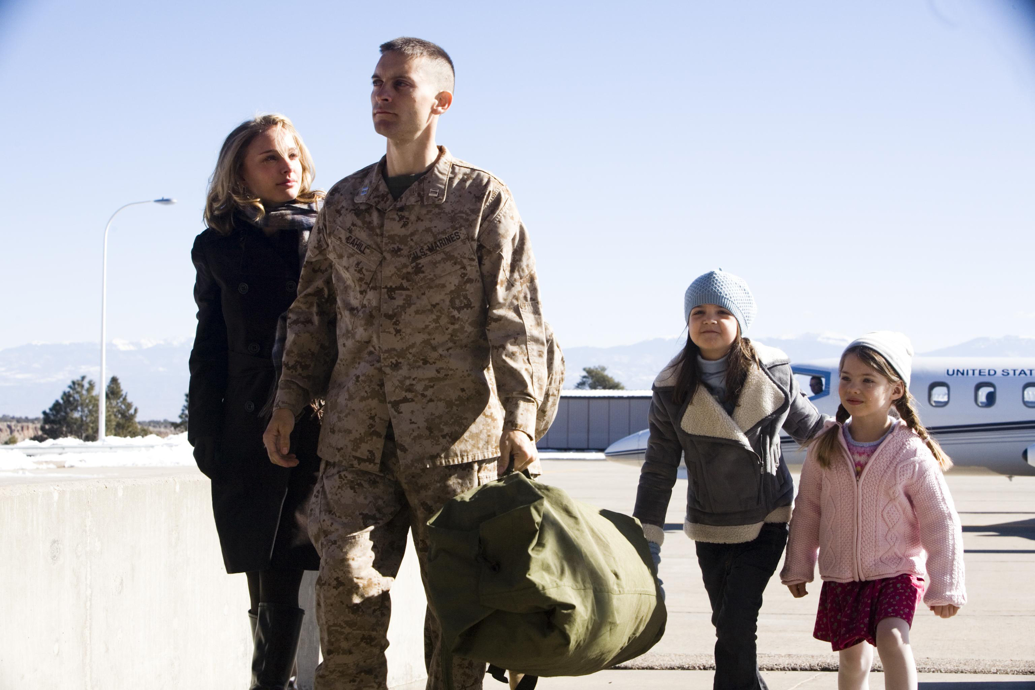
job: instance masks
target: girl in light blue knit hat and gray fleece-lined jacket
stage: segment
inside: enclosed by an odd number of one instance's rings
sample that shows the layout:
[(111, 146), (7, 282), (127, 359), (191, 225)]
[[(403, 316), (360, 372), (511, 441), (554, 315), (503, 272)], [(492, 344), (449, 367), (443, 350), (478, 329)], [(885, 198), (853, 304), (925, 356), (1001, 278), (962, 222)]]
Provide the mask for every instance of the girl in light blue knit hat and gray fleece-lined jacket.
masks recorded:
[(633, 511), (660, 565), (664, 514), (684, 456), (683, 530), (696, 542), (711, 603), (716, 690), (767, 687), (756, 631), (794, 498), (780, 430), (804, 442), (824, 422), (798, 388), (787, 355), (743, 337), (755, 313), (747, 283), (721, 269), (687, 288), (686, 346), (654, 381)]

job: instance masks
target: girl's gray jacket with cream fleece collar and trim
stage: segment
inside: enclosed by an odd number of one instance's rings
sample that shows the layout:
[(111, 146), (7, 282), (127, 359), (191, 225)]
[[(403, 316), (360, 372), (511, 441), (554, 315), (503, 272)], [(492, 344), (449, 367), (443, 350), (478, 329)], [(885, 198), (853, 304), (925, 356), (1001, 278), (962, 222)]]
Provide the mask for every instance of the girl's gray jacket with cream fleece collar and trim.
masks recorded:
[(688, 479), (683, 531), (690, 539), (741, 543), (758, 537), (765, 522), (791, 519), (794, 481), (782, 461), (780, 430), (803, 443), (823, 429), (826, 418), (798, 388), (787, 355), (751, 344), (762, 366), (751, 367), (732, 415), (704, 385), (682, 404), (673, 401), (678, 357), (654, 380), (633, 511), (648, 540), (664, 540), (681, 457)]

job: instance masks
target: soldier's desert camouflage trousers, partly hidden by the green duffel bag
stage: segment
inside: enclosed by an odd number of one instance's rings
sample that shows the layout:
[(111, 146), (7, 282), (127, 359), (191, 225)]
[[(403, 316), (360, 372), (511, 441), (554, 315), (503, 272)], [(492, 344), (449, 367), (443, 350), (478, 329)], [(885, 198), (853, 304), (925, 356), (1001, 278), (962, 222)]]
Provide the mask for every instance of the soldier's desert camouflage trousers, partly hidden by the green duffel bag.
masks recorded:
[[(317, 690), (388, 687), (388, 592), (403, 562), (408, 532), (413, 530), (423, 578), (427, 520), (449, 499), (495, 479), (495, 459), (403, 469), (390, 438), (380, 473), (324, 461), (309, 504), (309, 536), (321, 558), (317, 622), (323, 662), (317, 668)], [(427, 610), (427, 690), (443, 687), (439, 643), (438, 622)], [(484, 664), (453, 657), (456, 690), (481, 688), (484, 673)]]

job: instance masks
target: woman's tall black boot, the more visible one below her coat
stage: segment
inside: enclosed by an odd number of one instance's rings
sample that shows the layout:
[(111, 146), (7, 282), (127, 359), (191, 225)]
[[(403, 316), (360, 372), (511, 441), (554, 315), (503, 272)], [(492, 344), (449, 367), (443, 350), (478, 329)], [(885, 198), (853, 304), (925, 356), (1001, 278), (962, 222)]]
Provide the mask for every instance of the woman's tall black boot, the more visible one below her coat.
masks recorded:
[(305, 610), (297, 606), (259, 604), (252, 690), (285, 690), (295, 665), (304, 616)]

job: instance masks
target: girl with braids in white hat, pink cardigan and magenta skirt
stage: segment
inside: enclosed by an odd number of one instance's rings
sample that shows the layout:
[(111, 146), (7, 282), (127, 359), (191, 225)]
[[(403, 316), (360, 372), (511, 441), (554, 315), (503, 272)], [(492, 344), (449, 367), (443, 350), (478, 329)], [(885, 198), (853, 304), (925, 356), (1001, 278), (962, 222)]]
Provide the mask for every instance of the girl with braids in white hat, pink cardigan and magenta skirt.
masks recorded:
[(874, 647), (885, 687), (915, 689), (917, 604), (951, 618), (967, 602), (963, 532), (942, 477), (952, 462), (917, 416), (912, 357), (889, 331), (848, 347), (836, 421), (808, 443), (801, 471), (780, 580), (804, 597), (819, 557), (814, 635), (839, 652), (839, 690), (867, 687)]

